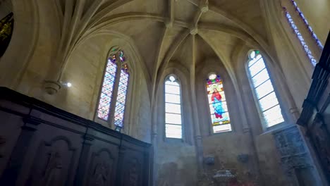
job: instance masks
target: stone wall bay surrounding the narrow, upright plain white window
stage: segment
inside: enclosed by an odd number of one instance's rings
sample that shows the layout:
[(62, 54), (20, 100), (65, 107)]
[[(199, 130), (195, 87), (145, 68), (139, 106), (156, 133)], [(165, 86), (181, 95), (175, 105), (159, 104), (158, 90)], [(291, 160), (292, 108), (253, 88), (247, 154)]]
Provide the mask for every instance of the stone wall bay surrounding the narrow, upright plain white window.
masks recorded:
[[(175, 75), (181, 87), (183, 138), (165, 136), (164, 82)], [(157, 82), (157, 104), (154, 108), (154, 185), (196, 185), (197, 149), (188, 70), (178, 61), (171, 61)]]

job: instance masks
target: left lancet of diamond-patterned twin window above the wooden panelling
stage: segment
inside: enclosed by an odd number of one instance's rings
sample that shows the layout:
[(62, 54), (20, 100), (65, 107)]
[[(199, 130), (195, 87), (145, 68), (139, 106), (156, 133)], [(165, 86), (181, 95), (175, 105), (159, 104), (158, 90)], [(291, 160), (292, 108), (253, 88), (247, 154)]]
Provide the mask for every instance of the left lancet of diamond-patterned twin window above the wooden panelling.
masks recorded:
[(102, 84), (97, 117), (102, 120), (108, 120), (110, 113), (111, 99), (114, 92), (114, 82), (116, 80), (117, 65), (116, 58), (109, 58), (106, 64), (106, 72)]

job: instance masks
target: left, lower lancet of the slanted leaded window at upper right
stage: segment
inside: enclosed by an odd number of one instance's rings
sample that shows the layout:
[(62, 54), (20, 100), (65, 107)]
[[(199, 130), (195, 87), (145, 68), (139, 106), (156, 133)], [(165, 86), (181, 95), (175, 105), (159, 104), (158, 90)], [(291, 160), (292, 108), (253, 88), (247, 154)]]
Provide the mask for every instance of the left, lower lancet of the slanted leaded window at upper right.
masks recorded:
[(288, 23), (291, 25), (293, 32), (295, 32), (295, 35), (298, 37), (300, 44), (302, 45), (302, 48), (304, 49), (308, 58), (310, 58), (310, 63), (312, 63), (313, 66), (316, 66), (317, 61), (315, 60), (314, 56), (312, 55), (312, 51), (310, 51), (310, 48), (308, 47), (307, 43), (305, 42), (305, 39), (302, 37), (297, 25), (295, 25), (295, 22), (293, 21), (293, 18), (291, 17), (290, 13), (288, 13), (288, 11), (286, 11), (286, 18), (288, 19)]

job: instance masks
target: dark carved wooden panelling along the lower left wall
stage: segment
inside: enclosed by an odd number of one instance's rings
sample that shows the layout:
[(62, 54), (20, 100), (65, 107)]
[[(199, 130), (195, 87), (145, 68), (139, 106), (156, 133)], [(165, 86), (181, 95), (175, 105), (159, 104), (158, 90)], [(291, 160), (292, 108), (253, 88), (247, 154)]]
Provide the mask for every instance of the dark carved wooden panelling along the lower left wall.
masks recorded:
[(151, 144), (0, 87), (0, 185), (151, 185)]

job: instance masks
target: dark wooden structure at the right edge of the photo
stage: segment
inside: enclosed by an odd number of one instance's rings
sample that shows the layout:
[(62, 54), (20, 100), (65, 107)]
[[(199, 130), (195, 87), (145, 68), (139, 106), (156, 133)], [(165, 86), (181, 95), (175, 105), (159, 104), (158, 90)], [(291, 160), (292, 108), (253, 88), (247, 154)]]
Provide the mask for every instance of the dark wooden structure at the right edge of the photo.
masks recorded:
[(302, 107), (298, 125), (310, 138), (324, 175), (330, 184), (330, 35), (312, 75), (312, 85)]

